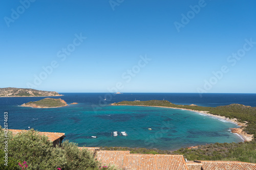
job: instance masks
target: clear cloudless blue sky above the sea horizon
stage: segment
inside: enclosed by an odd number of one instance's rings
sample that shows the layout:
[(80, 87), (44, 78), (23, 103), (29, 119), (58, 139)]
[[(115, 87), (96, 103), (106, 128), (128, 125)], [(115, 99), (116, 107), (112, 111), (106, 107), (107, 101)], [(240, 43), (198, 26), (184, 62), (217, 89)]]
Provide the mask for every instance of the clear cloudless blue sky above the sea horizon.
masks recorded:
[(108, 92), (119, 82), (121, 92), (256, 93), (255, 7), (254, 0), (1, 1), (0, 87)]

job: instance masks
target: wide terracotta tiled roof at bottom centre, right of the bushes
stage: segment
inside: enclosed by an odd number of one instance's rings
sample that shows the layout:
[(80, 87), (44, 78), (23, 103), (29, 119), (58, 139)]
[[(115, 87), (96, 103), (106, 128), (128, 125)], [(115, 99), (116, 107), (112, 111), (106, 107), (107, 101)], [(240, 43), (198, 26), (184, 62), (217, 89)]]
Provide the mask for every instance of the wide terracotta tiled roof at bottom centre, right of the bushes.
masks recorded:
[(114, 164), (127, 170), (173, 169), (187, 170), (182, 155), (130, 154), (130, 151), (98, 151), (96, 158), (102, 166)]

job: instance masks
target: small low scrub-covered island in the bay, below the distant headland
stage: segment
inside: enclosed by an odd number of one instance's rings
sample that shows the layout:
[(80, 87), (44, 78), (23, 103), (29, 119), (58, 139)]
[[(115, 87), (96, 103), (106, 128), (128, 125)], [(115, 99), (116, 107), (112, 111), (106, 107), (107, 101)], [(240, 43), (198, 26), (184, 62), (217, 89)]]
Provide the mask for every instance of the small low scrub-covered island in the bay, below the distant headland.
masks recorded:
[(45, 98), (36, 102), (28, 102), (21, 105), (23, 107), (33, 107), (33, 108), (55, 108), (55, 107), (65, 107), (68, 104), (62, 99)]

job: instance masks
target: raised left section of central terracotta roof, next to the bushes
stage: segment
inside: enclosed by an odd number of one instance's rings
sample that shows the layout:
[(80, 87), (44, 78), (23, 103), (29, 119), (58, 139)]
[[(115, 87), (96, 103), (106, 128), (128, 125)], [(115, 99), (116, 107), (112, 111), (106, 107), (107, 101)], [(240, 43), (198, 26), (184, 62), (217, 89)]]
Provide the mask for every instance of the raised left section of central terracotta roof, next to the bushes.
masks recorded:
[(113, 164), (117, 168), (122, 168), (123, 158), (128, 154), (130, 151), (98, 151), (96, 159), (101, 162), (102, 166)]

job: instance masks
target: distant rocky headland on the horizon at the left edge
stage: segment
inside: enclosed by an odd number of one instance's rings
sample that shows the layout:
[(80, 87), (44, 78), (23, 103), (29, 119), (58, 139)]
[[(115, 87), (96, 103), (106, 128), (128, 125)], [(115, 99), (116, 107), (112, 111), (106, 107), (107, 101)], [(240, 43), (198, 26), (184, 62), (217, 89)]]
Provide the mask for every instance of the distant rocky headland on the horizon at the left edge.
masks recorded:
[(42, 91), (31, 88), (0, 88), (0, 97), (61, 96), (56, 91)]

